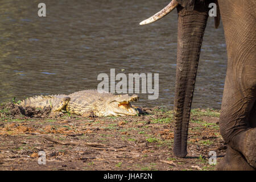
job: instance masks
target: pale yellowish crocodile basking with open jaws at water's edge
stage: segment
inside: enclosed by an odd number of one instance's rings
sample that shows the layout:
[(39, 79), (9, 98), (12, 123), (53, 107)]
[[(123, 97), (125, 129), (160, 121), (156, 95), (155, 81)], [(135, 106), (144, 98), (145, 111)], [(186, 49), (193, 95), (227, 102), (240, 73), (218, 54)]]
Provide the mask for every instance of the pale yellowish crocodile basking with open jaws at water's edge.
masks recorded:
[(49, 96), (34, 96), (21, 101), (18, 106), (28, 106), (44, 109), (51, 107), (50, 117), (62, 115), (63, 111), (82, 117), (125, 116), (137, 115), (138, 109), (130, 102), (137, 102), (137, 95), (114, 95), (97, 90), (82, 90), (69, 95), (56, 94)]

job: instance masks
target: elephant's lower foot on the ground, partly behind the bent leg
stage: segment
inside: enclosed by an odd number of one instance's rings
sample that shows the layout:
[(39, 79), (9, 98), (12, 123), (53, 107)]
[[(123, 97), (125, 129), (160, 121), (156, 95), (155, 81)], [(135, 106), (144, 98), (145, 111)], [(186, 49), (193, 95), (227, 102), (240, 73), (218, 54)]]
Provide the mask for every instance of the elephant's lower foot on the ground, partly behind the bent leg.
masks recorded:
[(226, 151), (226, 155), (218, 163), (216, 167), (217, 171), (254, 171), (255, 169), (251, 167), (247, 162), (243, 155), (234, 150), (232, 147), (228, 146), (228, 150)]

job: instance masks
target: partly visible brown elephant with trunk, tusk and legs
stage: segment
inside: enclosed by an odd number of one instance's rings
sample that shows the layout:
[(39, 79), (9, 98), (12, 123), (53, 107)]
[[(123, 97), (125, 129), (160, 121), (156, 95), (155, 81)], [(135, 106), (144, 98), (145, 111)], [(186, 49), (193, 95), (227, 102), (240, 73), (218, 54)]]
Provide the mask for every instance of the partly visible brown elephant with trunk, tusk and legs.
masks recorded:
[[(187, 155), (188, 124), (197, 65), (209, 3), (216, 3), (218, 26), (224, 26), (228, 65), (221, 104), (220, 133), (228, 150), (217, 170), (256, 169), (256, 25), (255, 0), (172, 0), (178, 13), (177, 68), (174, 99), (174, 154)], [(220, 10), (220, 11), (219, 11)], [(144, 22), (152, 23), (171, 10), (167, 8)], [(161, 16), (161, 17), (160, 17)]]

